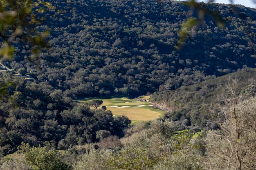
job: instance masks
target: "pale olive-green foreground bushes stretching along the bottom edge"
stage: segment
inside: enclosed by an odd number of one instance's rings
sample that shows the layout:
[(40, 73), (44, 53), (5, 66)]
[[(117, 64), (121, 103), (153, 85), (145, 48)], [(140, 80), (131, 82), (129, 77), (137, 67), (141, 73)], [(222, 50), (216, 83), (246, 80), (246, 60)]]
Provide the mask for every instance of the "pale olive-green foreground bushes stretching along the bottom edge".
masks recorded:
[(68, 169), (73, 162), (73, 170), (254, 170), (256, 133), (251, 125), (255, 123), (256, 98), (238, 101), (239, 97), (225, 101), (220, 111), (225, 115), (220, 130), (181, 130), (186, 125), (179, 121), (155, 119), (129, 128), (121, 140), (116, 136), (103, 137), (94, 145), (60, 151), (61, 155), (22, 144), (23, 154), (13, 155), (1, 168)]

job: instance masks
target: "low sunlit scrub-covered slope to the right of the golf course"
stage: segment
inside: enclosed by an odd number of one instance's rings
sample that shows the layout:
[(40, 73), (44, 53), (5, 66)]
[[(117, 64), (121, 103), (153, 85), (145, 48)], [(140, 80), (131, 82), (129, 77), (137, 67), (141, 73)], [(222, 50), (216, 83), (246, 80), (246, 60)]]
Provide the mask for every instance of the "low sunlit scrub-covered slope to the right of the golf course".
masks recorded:
[[(151, 95), (150, 99), (171, 111), (163, 119), (184, 121), (186, 125), (198, 129), (216, 130), (221, 118), (216, 107), (224, 106), (225, 100), (234, 95), (243, 95), (243, 99), (254, 96), (254, 77), (256, 70), (245, 68), (191, 86), (182, 86), (174, 91), (160, 91)], [(235, 88), (236, 94), (230, 93), (231, 88)]]

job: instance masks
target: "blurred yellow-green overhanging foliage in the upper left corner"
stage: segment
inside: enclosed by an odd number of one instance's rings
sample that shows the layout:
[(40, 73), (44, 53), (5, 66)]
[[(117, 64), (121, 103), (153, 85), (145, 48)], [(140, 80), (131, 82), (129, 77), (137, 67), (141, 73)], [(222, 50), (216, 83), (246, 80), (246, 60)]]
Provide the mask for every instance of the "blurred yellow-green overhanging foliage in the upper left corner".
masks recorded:
[[(4, 0), (0, 3), (0, 57), (13, 60), (13, 53), (29, 50), (31, 56), (19, 55), (21, 59), (33, 60), (41, 48), (46, 47), (46, 30), (39, 28), (45, 15), (54, 11), (50, 2), (34, 0)], [(16, 48), (19, 48), (17, 50)]]

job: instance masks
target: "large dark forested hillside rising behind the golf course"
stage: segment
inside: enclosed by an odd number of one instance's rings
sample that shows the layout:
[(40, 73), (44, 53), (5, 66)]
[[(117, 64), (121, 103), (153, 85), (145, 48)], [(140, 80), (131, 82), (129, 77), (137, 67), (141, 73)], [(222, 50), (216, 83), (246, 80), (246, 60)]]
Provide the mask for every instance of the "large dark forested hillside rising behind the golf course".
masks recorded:
[(66, 13), (45, 21), (52, 29), (52, 48), (42, 54), (47, 60), (40, 60), (41, 70), (29, 62), (9, 66), (76, 96), (135, 97), (255, 67), (255, 9), (237, 6), (245, 16), (240, 18), (229, 5), (202, 4), (218, 10), (227, 27), (218, 28), (206, 16), (200, 28), (188, 32), (182, 49), (175, 50), (189, 10), (181, 2), (52, 3)]

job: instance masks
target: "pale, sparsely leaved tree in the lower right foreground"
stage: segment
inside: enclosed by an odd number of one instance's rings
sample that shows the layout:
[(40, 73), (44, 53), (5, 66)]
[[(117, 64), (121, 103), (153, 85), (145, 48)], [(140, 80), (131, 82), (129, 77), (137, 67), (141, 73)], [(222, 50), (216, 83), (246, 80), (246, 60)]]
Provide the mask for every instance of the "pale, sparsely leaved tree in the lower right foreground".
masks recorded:
[(223, 109), (221, 130), (207, 134), (205, 166), (211, 170), (256, 169), (256, 97)]

